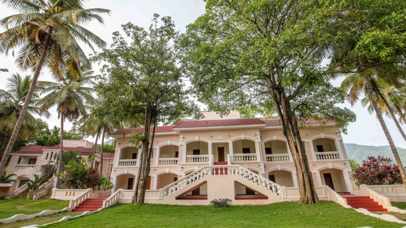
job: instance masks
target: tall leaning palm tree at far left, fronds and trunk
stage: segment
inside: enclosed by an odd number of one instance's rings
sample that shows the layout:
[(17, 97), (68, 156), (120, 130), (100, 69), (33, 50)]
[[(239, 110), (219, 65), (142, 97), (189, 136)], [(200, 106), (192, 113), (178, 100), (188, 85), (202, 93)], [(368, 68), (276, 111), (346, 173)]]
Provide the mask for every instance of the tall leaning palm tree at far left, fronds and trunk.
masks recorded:
[(1, 2), (20, 13), (0, 20), (0, 25), (6, 28), (0, 33), (0, 53), (14, 54), (14, 49), (21, 48), (16, 58), (17, 64), (23, 70), (34, 71), (23, 108), (1, 158), (0, 170), (3, 170), (25, 120), (42, 67), (48, 66), (60, 77), (66, 69), (79, 75), (80, 65), (90, 64), (78, 41), (87, 44), (92, 50), (92, 43), (98, 48), (106, 45), (102, 39), (82, 25), (92, 20), (103, 23), (100, 13), (110, 11), (100, 8), (85, 9), (84, 0), (1, 0)]

